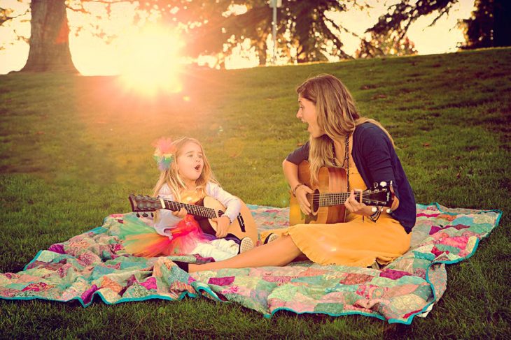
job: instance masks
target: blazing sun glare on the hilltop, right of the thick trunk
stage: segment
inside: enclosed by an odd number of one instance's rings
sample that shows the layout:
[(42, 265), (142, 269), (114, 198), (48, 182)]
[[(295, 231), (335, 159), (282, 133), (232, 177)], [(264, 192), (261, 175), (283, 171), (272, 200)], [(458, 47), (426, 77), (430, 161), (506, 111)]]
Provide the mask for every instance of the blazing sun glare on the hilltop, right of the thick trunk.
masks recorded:
[(181, 91), (179, 34), (162, 27), (148, 27), (127, 34), (120, 45), (120, 80), (128, 89), (148, 96)]

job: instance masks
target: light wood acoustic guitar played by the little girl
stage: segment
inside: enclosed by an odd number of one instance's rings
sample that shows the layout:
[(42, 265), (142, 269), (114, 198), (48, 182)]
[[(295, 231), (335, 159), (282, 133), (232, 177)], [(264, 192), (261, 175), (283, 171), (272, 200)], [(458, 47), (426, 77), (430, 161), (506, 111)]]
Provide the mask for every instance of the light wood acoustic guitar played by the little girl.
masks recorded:
[[(216, 234), (216, 222), (212, 219), (221, 217), (225, 213), (225, 207), (222, 203), (209, 196), (204, 197), (203, 200), (200, 200), (195, 205), (190, 205), (174, 202), (172, 200), (165, 200), (163, 198), (132, 194), (130, 195), (130, 203), (132, 205), (132, 211), (136, 212), (137, 216), (142, 213), (144, 217), (148, 216), (148, 212), (155, 212), (158, 209), (167, 209), (177, 212), (181, 208), (185, 208), (188, 214), (195, 217), (202, 231), (210, 235)], [(240, 213), (229, 226), (228, 234), (235, 235), (239, 239), (250, 237), (253, 244), (258, 242), (258, 231), (255, 226), (255, 221), (243, 201), (241, 201)]]

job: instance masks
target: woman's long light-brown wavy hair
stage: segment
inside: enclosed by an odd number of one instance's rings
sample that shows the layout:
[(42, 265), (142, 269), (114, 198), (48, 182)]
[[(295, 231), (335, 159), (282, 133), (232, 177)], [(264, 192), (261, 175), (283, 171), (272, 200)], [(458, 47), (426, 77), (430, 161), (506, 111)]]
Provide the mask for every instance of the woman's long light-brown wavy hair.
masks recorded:
[(318, 182), (318, 172), (323, 166), (335, 167), (332, 143), (334, 140), (344, 140), (346, 135), (355, 131), (356, 126), (370, 121), (383, 130), (392, 145), (393, 139), (388, 131), (374, 119), (360, 117), (353, 96), (342, 82), (333, 75), (322, 74), (311, 77), (297, 87), (298, 96), (316, 105), (318, 126), (325, 134), (318, 138), (309, 139), (309, 162), (311, 182)]

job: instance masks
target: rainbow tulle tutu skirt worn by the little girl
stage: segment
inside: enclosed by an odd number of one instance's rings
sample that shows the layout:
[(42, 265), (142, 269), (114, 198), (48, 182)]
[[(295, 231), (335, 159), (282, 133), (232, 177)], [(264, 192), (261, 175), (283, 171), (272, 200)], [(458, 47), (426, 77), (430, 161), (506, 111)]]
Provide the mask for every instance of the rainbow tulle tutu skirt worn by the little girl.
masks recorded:
[(136, 216), (127, 215), (120, 228), (120, 237), (128, 253), (144, 258), (190, 255), (197, 244), (216, 239), (204, 234), (192, 215), (186, 215), (177, 226), (170, 228), (172, 237), (163, 236)]

